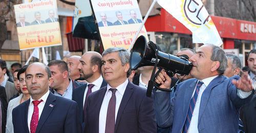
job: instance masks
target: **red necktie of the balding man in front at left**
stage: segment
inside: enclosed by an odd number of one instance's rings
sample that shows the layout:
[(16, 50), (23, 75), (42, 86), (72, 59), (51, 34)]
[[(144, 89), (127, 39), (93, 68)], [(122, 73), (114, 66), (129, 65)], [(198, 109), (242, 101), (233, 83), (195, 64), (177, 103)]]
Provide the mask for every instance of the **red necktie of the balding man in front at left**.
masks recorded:
[(39, 115), (39, 109), (37, 107), (37, 105), (42, 102), (42, 100), (40, 101), (32, 101), (32, 103), (34, 104), (34, 112), (30, 121), (30, 133), (35, 133), (37, 124), (38, 124), (38, 115)]

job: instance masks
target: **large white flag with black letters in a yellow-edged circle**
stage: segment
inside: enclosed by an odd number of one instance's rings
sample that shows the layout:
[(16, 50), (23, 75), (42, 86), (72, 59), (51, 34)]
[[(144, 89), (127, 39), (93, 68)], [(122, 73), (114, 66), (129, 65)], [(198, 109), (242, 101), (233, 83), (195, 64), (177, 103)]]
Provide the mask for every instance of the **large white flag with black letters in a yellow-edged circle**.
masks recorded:
[(158, 0), (157, 2), (192, 32), (193, 43), (222, 45), (221, 37), (201, 0)]

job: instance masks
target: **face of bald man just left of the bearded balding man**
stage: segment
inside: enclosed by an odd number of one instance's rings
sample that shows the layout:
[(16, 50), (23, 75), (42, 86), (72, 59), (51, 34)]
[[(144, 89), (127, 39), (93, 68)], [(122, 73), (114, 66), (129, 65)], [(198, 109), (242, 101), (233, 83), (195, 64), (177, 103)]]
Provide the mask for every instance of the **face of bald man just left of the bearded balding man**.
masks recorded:
[(67, 60), (69, 67), (69, 78), (76, 80), (80, 78), (80, 72), (78, 70), (78, 64), (80, 63), (81, 56), (73, 55), (70, 56)]

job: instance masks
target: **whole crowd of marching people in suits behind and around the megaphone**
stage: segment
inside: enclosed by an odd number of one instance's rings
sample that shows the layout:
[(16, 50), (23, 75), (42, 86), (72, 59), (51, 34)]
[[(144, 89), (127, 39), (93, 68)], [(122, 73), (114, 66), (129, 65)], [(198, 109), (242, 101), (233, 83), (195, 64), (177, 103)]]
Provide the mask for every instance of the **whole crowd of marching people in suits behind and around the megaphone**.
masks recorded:
[(109, 48), (52, 60), (11, 65), (0, 59), (0, 132), (256, 132), (256, 50), (248, 68), (214, 45), (181, 49), (188, 75), (156, 83), (171, 92), (146, 96), (153, 66), (131, 70), (130, 52)]

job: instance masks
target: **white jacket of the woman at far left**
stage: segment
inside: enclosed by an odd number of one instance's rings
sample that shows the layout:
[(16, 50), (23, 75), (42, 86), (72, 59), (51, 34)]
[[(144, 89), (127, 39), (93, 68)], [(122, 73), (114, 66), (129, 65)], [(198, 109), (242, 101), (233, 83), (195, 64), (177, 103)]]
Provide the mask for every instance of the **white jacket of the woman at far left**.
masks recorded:
[(14, 107), (20, 104), (22, 100), (23, 94), (20, 94), (18, 97), (10, 100), (7, 108), (7, 121), (6, 121), (6, 133), (13, 132), (13, 124), (12, 124), (12, 110)]

